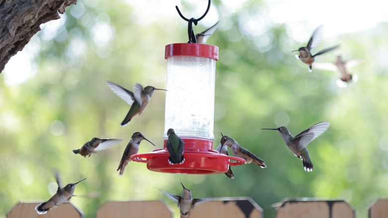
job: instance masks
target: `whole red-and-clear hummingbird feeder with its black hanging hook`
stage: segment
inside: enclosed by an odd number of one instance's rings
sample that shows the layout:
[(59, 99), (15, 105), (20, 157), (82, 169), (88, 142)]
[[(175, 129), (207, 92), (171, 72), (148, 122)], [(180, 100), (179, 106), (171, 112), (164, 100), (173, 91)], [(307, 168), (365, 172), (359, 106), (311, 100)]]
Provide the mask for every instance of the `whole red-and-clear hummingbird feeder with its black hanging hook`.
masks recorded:
[[(164, 148), (150, 153), (135, 154), (131, 160), (147, 163), (151, 171), (187, 174), (220, 174), (230, 166), (245, 160), (213, 150), (215, 62), (218, 47), (198, 44), (192, 24), (201, 20), (187, 19), (176, 6), (179, 15), (189, 22), (189, 42), (166, 45), (167, 59)], [(173, 128), (185, 142), (185, 162), (171, 165), (167, 148), (167, 130)], [(233, 160), (233, 162), (231, 162)]]

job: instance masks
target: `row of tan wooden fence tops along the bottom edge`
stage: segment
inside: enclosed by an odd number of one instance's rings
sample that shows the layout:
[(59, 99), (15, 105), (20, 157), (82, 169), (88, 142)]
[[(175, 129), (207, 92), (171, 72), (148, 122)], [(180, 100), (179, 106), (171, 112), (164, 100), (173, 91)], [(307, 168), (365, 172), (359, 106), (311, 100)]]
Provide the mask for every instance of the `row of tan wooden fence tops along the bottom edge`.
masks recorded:
[[(7, 218), (84, 218), (83, 212), (71, 203), (65, 203), (38, 215), (39, 202), (19, 202)], [(285, 199), (275, 204), (276, 218), (356, 218), (356, 212), (342, 200)], [(97, 218), (174, 218), (163, 201), (106, 202), (97, 211)], [(263, 209), (251, 198), (213, 198), (195, 206), (191, 218), (265, 218)], [(388, 199), (379, 199), (369, 208), (369, 218), (388, 218)]]

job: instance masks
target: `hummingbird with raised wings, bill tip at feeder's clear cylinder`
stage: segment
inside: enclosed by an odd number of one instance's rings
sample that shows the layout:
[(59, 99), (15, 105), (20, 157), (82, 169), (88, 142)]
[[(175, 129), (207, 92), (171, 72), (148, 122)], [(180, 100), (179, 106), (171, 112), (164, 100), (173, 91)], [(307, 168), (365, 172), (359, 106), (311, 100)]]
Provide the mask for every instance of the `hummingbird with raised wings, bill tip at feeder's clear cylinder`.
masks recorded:
[(151, 96), (154, 94), (155, 90), (163, 90), (164, 89), (156, 89), (153, 86), (146, 86), (143, 89), (143, 86), (136, 83), (133, 88), (133, 93), (113, 82), (106, 81), (109, 88), (122, 100), (124, 100), (129, 105), (132, 105), (129, 109), (127, 115), (125, 116), (124, 120), (121, 122), (122, 126), (125, 126), (128, 124), (129, 121), (131, 121), (132, 117), (134, 117), (137, 114), (141, 114), (144, 112), (148, 104), (150, 103)]

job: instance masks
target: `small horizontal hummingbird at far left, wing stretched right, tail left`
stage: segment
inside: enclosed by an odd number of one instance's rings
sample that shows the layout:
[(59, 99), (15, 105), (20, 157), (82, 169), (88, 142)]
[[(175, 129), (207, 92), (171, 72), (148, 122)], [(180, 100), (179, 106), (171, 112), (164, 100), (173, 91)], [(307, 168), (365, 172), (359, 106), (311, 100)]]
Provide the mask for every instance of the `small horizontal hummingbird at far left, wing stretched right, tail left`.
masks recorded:
[(81, 154), (82, 156), (86, 157), (87, 155), (92, 155), (92, 153), (96, 153), (100, 150), (105, 150), (110, 148), (111, 146), (115, 145), (116, 143), (122, 141), (122, 139), (116, 139), (116, 138), (97, 138), (94, 137), (92, 140), (86, 142), (82, 148), (73, 150), (75, 154)]

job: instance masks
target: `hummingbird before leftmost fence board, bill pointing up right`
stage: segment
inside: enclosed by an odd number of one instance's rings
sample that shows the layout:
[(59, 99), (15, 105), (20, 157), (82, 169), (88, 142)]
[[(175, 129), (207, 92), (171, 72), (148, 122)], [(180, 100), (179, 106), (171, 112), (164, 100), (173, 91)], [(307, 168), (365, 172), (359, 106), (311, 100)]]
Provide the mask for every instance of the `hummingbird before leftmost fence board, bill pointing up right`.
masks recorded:
[(74, 190), (76, 189), (76, 185), (86, 180), (85, 178), (83, 180), (80, 180), (79, 182), (67, 184), (65, 188), (63, 188), (61, 186), (61, 181), (59, 179), (59, 175), (57, 172), (55, 173), (55, 178), (58, 184), (57, 193), (55, 193), (55, 195), (53, 195), (53, 197), (51, 197), (50, 200), (48, 200), (47, 202), (36, 206), (35, 207), (36, 213), (46, 214), (52, 208), (55, 208), (62, 203), (69, 202), (71, 197), (73, 196)]

